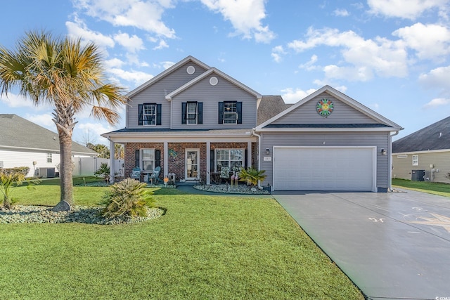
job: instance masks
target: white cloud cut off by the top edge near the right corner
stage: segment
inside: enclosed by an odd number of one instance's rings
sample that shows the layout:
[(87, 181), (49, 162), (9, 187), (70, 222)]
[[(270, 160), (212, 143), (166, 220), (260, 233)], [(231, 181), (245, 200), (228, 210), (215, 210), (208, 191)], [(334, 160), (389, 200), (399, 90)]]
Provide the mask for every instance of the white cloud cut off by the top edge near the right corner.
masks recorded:
[(370, 13), (414, 20), (430, 9), (445, 9), (449, 0), (368, 0)]

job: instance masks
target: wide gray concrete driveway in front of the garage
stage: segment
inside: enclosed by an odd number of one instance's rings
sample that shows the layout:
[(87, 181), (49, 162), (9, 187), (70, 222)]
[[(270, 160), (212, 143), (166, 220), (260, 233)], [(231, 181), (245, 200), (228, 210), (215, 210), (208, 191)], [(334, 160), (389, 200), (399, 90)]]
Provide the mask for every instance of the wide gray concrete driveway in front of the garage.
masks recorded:
[(450, 300), (450, 198), (274, 192), (368, 299)]

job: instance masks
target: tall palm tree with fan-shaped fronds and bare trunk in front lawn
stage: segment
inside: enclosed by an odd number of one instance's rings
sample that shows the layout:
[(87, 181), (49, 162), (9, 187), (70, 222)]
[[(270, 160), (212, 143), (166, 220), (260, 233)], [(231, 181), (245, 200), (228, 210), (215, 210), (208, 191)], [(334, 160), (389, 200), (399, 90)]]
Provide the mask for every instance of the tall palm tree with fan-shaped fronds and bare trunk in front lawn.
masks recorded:
[(70, 210), (72, 133), (75, 114), (91, 107), (91, 115), (115, 124), (116, 108), (127, 103), (124, 89), (105, 83), (101, 54), (92, 43), (55, 38), (49, 32), (26, 32), (15, 48), (0, 46), (0, 95), (18, 91), (35, 105), (53, 106), (60, 141), (60, 202), (55, 210)]

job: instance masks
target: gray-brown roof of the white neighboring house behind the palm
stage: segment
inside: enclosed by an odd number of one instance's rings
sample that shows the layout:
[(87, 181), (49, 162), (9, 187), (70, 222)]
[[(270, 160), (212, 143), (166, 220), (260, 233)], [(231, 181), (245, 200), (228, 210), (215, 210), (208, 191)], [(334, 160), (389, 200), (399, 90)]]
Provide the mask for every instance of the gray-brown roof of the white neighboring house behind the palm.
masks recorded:
[[(0, 148), (21, 148), (59, 152), (58, 133), (45, 129), (18, 115), (0, 114)], [(72, 153), (98, 153), (72, 141)]]

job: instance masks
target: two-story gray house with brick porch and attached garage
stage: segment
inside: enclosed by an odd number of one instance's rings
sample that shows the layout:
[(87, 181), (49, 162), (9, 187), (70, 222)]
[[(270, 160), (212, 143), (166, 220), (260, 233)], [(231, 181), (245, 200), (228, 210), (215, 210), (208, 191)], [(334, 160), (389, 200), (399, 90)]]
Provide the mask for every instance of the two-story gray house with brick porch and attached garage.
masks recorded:
[(124, 144), (126, 176), (159, 166), (211, 183), (223, 168), (256, 167), (272, 190), (390, 188), (386, 152), (401, 126), (330, 86), (286, 105), (188, 56), (127, 96), (126, 127), (102, 134)]

